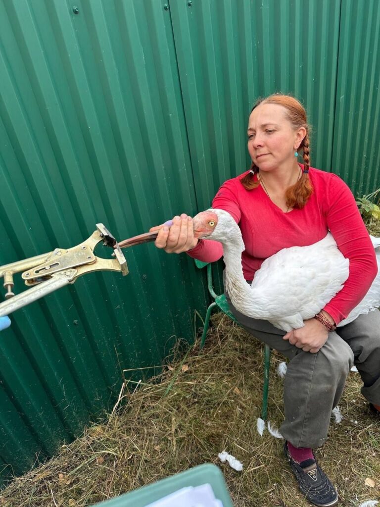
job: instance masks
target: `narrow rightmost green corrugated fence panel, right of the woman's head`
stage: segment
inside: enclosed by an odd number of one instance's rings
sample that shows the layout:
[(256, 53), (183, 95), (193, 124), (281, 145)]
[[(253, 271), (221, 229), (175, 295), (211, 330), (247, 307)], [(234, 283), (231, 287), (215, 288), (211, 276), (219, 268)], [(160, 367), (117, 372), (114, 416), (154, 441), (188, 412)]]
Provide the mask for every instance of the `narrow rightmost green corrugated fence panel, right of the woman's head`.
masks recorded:
[(355, 193), (380, 187), (380, 4), (342, 2), (332, 167)]

